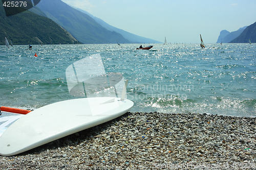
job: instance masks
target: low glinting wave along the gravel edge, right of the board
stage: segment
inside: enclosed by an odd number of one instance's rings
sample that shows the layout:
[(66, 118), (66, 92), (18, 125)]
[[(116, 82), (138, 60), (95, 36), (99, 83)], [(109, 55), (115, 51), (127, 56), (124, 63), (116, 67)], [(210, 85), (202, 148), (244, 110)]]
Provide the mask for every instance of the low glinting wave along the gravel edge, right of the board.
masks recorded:
[(164, 113), (207, 113), (221, 114), (226, 116), (256, 116), (255, 99), (231, 99), (217, 97), (208, 99), (182, 99), (177, 95), (162, 97), (148, 97), (144, 99), (133, 98), (135, 108), (143, 112), (164, 112)]

